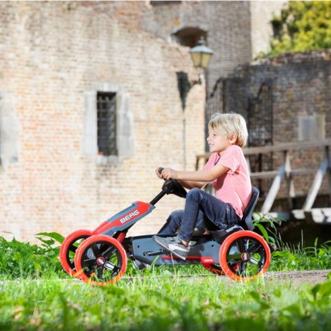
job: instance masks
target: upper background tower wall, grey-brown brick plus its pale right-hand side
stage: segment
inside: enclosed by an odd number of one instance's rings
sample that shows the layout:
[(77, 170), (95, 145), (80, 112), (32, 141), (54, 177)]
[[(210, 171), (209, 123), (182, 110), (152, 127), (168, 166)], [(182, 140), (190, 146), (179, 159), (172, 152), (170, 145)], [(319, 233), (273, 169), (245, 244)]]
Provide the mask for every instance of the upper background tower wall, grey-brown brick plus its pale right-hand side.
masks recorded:
[[(237, 66), (270, 50), (270, 20), (273, 14), (279, 14), (285, 2), (160, 1), (145, 13), (142, 24), (166, 40), (184, 28), (204, 31), (208, 47), (214, 50), (205, 70), (207, 91), (212, 94), (220, 77), (227, 77)], [(208, 99), (206, 122), (212, 113), (220, 111), (220, 106), (217, 99)]]

